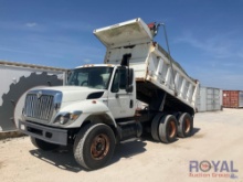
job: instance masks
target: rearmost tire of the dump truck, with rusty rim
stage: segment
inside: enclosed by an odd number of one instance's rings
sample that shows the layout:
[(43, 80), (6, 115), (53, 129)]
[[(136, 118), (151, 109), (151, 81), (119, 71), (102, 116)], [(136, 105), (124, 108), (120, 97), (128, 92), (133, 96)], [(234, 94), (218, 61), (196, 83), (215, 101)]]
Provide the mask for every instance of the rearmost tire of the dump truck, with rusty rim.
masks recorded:
[(186, 138), (191, 136), (193, 130), (193, 119), (192, 117), (184, 113), (179, 117), (179, 125), (178, 125), (178, 136), (181, 138)]

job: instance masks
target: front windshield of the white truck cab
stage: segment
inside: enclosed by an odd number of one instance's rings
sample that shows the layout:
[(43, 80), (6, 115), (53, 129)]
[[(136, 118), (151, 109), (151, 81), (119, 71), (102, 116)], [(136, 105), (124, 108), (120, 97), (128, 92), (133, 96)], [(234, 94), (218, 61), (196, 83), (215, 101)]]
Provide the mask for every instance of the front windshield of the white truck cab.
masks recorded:
[(67, 85), (107, 89), (113, 67), (82, 67), (73, 69)]

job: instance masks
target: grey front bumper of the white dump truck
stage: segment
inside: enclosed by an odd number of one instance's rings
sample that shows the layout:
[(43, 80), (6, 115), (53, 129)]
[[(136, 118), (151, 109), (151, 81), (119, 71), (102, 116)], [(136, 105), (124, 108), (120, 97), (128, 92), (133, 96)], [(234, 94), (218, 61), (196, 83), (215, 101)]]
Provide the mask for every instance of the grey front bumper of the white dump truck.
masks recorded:
[(19, 130), (28, 136), (44, 140), (46, 142), (67, 146), (66, 129), (51, 128), (28, 121), (19, 121)]

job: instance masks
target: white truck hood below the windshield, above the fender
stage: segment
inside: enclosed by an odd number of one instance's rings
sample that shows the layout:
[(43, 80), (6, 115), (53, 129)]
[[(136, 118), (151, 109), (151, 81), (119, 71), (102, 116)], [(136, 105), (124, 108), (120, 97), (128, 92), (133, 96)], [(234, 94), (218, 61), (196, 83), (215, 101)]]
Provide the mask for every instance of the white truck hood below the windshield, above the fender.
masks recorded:
[(62, 103), (65, 101), (76, 101), (84, 100), (88, 95), (94, 93), (101, 93), (101, 96), (104, 94), (104, 89), (95, 89), (82, 86), (56, 86), (43, 88), (46, 90), (56, 90), (62, 93)]

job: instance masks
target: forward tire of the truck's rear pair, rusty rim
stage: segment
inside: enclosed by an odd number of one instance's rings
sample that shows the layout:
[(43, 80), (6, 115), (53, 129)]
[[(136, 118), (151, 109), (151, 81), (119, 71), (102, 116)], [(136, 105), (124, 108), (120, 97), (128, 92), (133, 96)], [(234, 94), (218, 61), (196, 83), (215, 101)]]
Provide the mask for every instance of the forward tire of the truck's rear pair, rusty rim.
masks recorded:
[(177, 137), (177, 119), (172, 115), (166, 115), (159, 124), (159, 139), (161, 142), (169, 143), (176, 140)]

